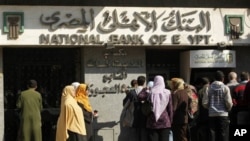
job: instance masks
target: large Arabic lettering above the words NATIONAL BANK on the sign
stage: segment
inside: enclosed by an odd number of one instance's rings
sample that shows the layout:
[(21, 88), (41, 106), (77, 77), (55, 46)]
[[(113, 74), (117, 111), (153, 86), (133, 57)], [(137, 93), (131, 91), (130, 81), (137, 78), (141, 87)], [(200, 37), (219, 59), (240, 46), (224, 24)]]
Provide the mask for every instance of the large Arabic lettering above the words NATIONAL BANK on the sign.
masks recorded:
[[(209, 11), (119, 11), (118, 9), (107, 9), (103, 11), (102, 17), (96, 19), (97, 11), (82, 8), (80, 15), (54, 11), (53, 13), (42, 13), (40, 22), (47, 25), (50, 31), (60, 28), (80, 28), (78, 32), (96, 29), (103, 34), (115, 32), (118, 29), (129, 29), (133, 32), (139, 29), (145, 32), (154, 32), (160, 28), (164, 32), (188, 31), (199, 33), (201, 30), (208, 32), (211, 29)], [(97, 22), (97, 23), (96, 23)]]

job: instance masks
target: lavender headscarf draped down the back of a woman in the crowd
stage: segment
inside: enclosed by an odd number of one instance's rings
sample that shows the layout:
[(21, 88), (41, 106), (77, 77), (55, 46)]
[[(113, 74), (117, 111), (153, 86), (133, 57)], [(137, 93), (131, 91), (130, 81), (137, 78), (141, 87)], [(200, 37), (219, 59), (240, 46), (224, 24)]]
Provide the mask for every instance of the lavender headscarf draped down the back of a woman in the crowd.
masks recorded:
[(160, 75), (155, 76), (154, 86), (151, 89), (151, 102), (153, 103), (153, 112), (157, 121), (169, 102), (170, 91), (165, 88), (164, 78)]

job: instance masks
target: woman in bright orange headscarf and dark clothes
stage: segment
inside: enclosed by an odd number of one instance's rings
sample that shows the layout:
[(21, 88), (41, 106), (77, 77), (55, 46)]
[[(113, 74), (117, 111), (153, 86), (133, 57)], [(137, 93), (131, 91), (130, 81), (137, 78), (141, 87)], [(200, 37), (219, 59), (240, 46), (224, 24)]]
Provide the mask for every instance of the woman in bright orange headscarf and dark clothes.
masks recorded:
[(89, 103), (88, 86), (86, 84), (80, 84), (76, 88), (76, 100), (79, 106), (83, 110), (84, 122), (87, 131), (88, 141), (92, 140), (92, 122), (93, 122), (93, 110)]

